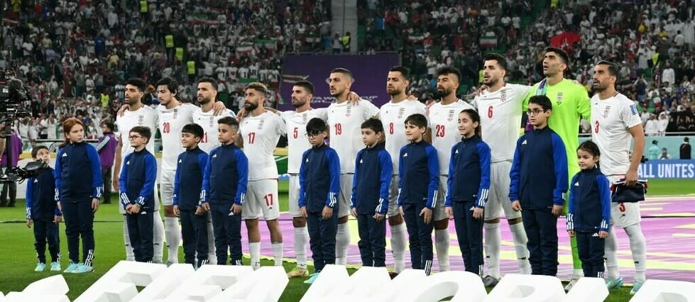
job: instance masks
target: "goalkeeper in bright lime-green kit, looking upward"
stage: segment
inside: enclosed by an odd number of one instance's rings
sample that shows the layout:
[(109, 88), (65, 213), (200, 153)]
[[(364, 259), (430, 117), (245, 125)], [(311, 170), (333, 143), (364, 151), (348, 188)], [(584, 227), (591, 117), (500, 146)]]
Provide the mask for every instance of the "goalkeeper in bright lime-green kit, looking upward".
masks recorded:
[[(569, 55), (564, 50), (555, 47), (547, 47), (543, 57), (543, 74), (545, 79), (535, 84), (524, 101), (523, 110), (528, 107), (531, 96), (544, 95), (552, 102), (552, 117), (548, 119), (548, 126), (560, 135), (564, 147), (567, 149), (567, 158), (576, 156), (576, 148), (579, 147), (579, 121), (581, 118), (589, 121), (591, 118), (591, 104), (589, 94), (584, 86), (576, 84), (569, 79), (564, 79), (565, 72), (569, 71)], [(569, 177), (579, 172), (579, 163), (576, 160), (568, 160)], [(567, 179), (571, 181), (571, 179)], [(563, 213), (567, 213), (567, 202)], [(576, 281), (584, 276), (579, 260), (579, 252), (576, 245), (576, 237), (570, 238), (572, 251), (572, 264), (574, 272), (572, 279), (565, 286), (569, 291)]]

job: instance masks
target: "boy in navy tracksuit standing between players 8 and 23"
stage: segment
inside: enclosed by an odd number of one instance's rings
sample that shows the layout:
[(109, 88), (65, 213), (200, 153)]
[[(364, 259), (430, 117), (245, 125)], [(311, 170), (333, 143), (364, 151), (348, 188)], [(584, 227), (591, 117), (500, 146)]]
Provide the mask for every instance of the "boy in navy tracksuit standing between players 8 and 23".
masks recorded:
[(425, 141), (427, 118), (415, 113), (405, 119), (405, 138), (399, 152), (398, 206), (405, 219), (413, 269), (432, 272), (432, 209), (439, 189), (437, 150)]

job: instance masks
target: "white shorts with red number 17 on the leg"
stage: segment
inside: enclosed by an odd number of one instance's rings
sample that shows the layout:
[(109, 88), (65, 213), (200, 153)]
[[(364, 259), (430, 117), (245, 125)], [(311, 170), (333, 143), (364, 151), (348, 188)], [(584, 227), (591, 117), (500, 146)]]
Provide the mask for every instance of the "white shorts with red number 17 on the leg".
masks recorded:
[(261, 215), (266, 220), (280, 217), (278, 179), (248, 181), (246, 201), (241, 208), (241, 219), (256, 219)]

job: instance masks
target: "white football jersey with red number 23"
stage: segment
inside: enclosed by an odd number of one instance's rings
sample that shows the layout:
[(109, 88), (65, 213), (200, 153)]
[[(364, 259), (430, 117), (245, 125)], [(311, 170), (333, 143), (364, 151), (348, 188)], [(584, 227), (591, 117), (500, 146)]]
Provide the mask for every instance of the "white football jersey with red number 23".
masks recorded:
[(437, 149), (441, 175), (449, 175), (449, 157), (452, 155), (452, 147), (461, 141), (459, 113), (464, 109), (473, 109), (473, 106), (457, 99), (448, 105), (442, 105), (441, 102), (435, 103), (427, 110), (429, 123), (432, 124), (432, 145)]

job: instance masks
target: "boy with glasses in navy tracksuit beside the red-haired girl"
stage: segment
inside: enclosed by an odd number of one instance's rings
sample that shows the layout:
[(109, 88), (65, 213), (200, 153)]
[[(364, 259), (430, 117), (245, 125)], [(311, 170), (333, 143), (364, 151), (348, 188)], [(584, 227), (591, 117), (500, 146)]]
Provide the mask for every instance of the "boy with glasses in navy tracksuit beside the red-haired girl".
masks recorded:
[(128, 140), (134, 151), (124, 159), (125, 164), (119, 177), (119, 198), (126, 210), (128, 235), (137, 262), (152, 262), (154, 247), (153, 206), (157, 160), (146, 149), (152, 138), (150, 128), (136, 126), (128, 132)]

